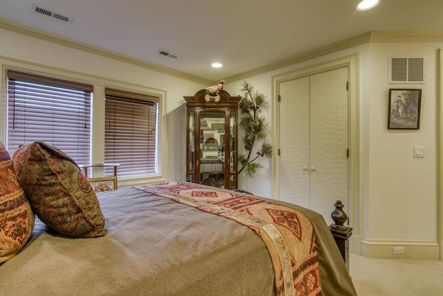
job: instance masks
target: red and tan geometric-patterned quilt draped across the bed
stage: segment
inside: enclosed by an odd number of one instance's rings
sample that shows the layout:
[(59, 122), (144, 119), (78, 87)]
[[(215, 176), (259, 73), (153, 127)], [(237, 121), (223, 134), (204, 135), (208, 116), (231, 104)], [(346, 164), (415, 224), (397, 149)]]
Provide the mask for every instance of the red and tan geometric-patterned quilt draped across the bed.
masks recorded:
[(163, 182), (135, 188), (251, 228), (269, 250), (277, 295), (322, 295), (316, 236), (311, 222), (300, 211), (192, 183)]

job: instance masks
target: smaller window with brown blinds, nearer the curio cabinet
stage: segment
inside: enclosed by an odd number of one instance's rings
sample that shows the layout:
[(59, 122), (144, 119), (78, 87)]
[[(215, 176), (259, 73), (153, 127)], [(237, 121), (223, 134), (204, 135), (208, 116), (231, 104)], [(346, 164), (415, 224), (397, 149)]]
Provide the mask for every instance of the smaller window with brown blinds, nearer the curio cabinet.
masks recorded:
[(105, 97), (105, 162), (121, 165), (119, 177), (159, 173), (159, 98), (116, 89)]

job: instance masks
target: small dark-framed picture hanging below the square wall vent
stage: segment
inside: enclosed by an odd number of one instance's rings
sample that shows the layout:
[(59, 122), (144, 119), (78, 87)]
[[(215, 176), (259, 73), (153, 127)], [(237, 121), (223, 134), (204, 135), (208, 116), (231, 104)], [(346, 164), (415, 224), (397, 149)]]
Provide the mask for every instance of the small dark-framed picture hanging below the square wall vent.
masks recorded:
[(422, 89), (389, 89), (388, 130), (419, 130)]

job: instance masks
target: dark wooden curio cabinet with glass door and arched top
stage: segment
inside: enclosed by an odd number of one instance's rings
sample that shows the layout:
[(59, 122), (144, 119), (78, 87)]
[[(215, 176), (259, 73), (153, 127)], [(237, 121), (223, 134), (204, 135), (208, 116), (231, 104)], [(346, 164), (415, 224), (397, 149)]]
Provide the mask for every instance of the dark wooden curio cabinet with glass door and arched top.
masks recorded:
[(237, 189), (237, 134), (240, 96), (205, 89), (184, 96), (188, 117), (186, 178), (189, 182)]

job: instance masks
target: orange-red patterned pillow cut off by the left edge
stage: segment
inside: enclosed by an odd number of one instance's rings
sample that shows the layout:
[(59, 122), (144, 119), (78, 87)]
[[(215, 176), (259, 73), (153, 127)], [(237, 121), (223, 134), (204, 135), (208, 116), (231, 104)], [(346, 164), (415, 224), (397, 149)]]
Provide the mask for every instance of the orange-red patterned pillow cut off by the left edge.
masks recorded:
[(34, 214), (0, 142), (0, 263), (15, 256), (33, 232)]

